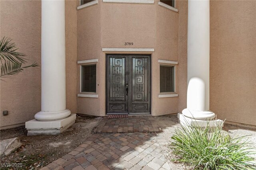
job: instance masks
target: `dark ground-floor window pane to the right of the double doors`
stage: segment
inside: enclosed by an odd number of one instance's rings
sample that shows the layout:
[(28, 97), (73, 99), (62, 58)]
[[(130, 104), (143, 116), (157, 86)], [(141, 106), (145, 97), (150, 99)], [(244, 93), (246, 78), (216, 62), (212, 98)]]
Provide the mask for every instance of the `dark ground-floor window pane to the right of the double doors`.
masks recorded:
[(160, 66), (160, 92), (174, 92), (173, 66)]

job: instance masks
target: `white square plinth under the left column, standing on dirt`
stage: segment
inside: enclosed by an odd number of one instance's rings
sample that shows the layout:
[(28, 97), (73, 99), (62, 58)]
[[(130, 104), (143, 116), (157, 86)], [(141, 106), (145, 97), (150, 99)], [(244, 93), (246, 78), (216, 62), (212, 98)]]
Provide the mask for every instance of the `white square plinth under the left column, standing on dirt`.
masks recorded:
[(36, 119), (25, 123), (28, 136), (33, 135), (59, 135), (75, 123), (76, 114), (54, 121), (38, 121)]

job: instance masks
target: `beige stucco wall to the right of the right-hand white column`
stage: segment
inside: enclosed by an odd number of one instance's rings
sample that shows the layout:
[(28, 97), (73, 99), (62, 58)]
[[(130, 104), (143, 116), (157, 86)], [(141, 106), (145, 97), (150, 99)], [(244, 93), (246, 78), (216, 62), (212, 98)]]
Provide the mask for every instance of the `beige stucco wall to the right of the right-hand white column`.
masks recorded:
[(210, 109), (256, 125), (256, 1), (210, 1)]

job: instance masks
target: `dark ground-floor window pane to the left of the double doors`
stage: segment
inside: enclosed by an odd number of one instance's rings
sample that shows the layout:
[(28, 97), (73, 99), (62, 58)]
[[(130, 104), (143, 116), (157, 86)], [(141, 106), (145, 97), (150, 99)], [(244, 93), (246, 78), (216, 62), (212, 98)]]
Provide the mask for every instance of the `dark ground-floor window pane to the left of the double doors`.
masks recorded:
[(96, 65), (82, 66), (82, 92), (96, 92)]

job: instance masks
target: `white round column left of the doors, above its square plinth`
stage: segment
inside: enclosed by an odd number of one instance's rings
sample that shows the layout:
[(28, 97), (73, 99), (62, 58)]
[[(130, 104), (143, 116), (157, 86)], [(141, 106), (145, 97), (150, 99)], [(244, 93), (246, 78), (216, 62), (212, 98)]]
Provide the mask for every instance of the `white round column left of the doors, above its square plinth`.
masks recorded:
[(65, 1), (42, 0), (42, 106), (35, 118), (68, 117), (66, 109)]

